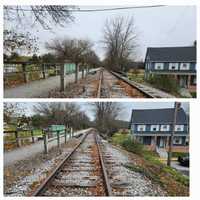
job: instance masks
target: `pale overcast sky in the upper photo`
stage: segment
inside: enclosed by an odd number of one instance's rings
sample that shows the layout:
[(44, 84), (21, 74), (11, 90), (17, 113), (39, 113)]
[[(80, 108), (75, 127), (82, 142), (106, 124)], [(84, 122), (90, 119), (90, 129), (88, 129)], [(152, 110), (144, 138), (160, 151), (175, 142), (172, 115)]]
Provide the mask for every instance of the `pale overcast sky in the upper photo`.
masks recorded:
[[(114, 6), (117, 7), (117, 6)], [(101, 7), (85, 7), (96, 9)], [(105, 8), (105, 7), (104, 7)], [(108, 8), (108, 7), (107, 7)], [(103, 58), (104, 49), (101, 40), (103, 26), (107, 19), (115, 16), (134, 17), (138, 33), (138, 58), (144, 59), (146, 48), (151, 46), (188, 46), (196, 39), (195, 6), (166, 6), (161, 8), (142, 8), (106, 12), (74, 13), (75, 22), (64, 28), (53, 27), (52, 32), (41, 27), (30, 29), (39, 37), (41, 53), (45, 42), (64, 36), (89, 38), (95, 43), (95, 50)]]

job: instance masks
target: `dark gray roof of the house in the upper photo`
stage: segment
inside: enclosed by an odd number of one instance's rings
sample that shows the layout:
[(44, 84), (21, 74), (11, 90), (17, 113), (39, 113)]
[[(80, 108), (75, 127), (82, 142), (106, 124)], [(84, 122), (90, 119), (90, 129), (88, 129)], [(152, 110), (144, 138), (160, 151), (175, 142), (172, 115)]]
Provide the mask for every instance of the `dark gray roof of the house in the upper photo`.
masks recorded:
[(147, 58), (154, 62), (196, 62), (196, 47), (149, 47)]

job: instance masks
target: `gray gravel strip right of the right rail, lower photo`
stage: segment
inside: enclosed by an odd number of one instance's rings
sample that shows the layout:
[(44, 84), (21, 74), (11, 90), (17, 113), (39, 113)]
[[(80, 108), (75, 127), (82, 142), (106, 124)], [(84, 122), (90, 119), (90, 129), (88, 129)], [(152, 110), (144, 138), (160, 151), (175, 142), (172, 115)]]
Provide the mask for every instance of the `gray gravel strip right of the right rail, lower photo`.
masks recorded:
[(110, 185), (114, 196), (165, 196), (159, 185), (152, 183), (143, 174), (125, 167), (134, 164), (128, 156), (106, 141), (101, 146), (108, 172)]

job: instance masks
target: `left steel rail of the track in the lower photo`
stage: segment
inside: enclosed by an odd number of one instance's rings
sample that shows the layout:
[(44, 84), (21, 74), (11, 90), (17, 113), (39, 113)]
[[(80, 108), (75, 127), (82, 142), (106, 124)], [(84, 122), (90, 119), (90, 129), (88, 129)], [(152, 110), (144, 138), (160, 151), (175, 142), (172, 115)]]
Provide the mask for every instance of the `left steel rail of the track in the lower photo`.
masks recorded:
[(31, 196), (40, 196), (42, 192), (45, 190), (46, 186), (48, 183), (57, 175), (57, 173), (60, 172), (62, 169), (63, 165), (66, 163), (67, 160), (70, 159), (70, 157), (73, 155), (73, 153), (79, 148), (79, 146), (85, 141), (87, 135), (89, 134), (86, 133), (81, 141), (74, 147), (74, 149), (65, 157), (64, 160), (62, 160), (59, 165), (51, 172), (51, 174), (42, 182), (42, 184), (31, 194)]

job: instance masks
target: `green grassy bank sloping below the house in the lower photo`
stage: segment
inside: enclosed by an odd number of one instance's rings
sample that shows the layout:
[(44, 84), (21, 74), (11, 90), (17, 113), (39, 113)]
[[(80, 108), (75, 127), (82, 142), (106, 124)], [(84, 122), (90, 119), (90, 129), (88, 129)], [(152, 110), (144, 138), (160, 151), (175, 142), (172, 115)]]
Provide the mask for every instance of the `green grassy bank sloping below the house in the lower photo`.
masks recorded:
[[(148, 151), (142, 144), (131, 139), (130, 135), (116, 133), (112, 137), (112, 143), (122, 146), (125, 150), (135, 153), (144, 159), (144, 163), (140, 165), (128, 164), (126, 168), (141, 173), (150, 178), (152, 181), (164, 186), (170, 180), (176, 181), (183, 186), (189, 186), (189, 177), (183, 176), (181, 172), (167, 166), (159, 160), (156, 152)], [(174, 153), (173, 156), (181, 155)], [(164, 178), (163, 178), (164, 176)], [(170, 184), (169, 184), (170, 185)], [(170, 189), (173, 190), (173, 186)], [(174, 192), (174, 191), (173, 191)], [(174, 194), (174, 193), (173, 193)]]

